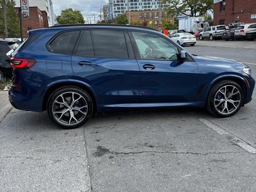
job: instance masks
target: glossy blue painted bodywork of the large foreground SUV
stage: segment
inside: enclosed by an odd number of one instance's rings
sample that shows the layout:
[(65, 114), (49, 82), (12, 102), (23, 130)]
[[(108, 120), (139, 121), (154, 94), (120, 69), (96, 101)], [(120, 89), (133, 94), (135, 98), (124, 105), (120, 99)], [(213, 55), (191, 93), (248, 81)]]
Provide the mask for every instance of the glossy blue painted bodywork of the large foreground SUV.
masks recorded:
[[(20, 86), (10, 89), (10, 102), (18, 109), (43, 111), (44, 99), (47, 100), (45, 95), (52, 86), (72, 83), (92, 92), (99, 113), (124, 108), (204, 107), (212, 85), (220, 79), (237, 79), (244, 85), (245, 103), (252, 99), (255, 81), (242, 72), (246, 66), (237, 61), (191, 56), (189, 53), (189, 61), (81, 57), (53, 53), (46, 48), (47, 42), (62, 31), (113, 28), (156, 33), (166, 38), (150, 29), (125, 26), (76, 26), (31, 31), (40, 36), (25, 49), (16, 51), (13, 57), (33, 58), (36, 64), (29, 69), (14, 69), (13, 83)], [(88, 65), (79, 65), (80, 61)], [(147, 70), (143, 65), (154, 65), (154, 69)]]

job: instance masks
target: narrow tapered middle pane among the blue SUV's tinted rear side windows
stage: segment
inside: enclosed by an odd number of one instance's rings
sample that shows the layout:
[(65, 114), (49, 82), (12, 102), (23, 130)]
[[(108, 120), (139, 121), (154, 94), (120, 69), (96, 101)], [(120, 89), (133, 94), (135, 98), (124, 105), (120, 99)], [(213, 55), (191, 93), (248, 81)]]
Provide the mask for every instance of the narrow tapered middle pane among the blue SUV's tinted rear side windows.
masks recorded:
[(92, 37), (90, 31), (83, 31), (75, 55), (84, 57), (94, 56)]

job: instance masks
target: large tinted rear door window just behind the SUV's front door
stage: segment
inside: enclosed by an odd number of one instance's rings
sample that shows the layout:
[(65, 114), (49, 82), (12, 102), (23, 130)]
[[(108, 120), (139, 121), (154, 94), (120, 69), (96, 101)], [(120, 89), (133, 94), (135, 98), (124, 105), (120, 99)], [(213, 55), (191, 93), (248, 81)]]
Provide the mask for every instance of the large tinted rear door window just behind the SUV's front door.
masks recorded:
[(128, 58), (124, 31), (92, 30), (92, 41), (96, 57)]

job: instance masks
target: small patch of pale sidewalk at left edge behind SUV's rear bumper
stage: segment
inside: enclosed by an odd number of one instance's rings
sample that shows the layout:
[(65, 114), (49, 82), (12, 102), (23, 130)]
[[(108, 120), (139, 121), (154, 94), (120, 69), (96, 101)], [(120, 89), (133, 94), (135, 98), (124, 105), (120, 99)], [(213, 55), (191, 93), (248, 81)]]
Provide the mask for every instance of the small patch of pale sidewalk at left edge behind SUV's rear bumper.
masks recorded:
[(8, 92), (0, 90), (0, 122), (11, 111), (12, 105), (8, 100)]

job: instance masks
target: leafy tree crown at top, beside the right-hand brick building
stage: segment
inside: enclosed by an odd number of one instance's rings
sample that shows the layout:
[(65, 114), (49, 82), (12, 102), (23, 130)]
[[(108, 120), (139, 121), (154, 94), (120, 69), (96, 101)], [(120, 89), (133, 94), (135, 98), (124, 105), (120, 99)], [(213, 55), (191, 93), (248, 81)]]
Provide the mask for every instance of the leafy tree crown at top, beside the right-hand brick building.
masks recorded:
[(172, 15), (182, 13), (190, 17), (205, 15), (213, 8), (212, 0), (164, 0), (163, 3), (170, 3), (168, 11)]

